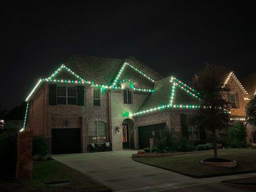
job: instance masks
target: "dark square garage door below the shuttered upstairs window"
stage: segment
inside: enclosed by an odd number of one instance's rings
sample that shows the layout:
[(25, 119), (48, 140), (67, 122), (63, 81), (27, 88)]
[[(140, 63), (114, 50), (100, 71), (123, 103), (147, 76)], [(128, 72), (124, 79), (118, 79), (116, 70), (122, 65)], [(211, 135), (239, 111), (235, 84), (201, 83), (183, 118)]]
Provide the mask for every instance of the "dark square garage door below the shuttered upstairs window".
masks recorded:
[(81, 153), (81, 129), (52, 129), (51, 154)]

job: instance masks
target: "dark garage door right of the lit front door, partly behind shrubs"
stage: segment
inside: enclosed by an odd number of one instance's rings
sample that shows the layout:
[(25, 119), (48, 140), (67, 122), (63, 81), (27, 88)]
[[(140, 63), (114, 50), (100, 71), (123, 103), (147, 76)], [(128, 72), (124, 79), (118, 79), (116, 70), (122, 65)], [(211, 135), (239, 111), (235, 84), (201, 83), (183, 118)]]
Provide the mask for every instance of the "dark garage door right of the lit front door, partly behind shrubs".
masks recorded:
[(149, 147), (149, 138), (152, 138), (152, 132), (155, 132), (155, 138), (159, 137), (159, 130), (165, 127), (166, 123), (146, 125), (138, 127), (139, 129), (139, 149)]

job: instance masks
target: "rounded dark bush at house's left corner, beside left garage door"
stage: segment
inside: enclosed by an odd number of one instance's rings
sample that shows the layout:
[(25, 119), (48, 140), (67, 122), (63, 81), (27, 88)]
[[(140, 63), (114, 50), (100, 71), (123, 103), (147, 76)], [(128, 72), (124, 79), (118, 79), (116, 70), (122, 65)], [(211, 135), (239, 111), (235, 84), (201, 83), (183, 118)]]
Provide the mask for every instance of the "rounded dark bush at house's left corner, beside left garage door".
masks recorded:
[(47, 143), (44, 138), (36, 136), (33, 138), (33, 156), (46, 156)]

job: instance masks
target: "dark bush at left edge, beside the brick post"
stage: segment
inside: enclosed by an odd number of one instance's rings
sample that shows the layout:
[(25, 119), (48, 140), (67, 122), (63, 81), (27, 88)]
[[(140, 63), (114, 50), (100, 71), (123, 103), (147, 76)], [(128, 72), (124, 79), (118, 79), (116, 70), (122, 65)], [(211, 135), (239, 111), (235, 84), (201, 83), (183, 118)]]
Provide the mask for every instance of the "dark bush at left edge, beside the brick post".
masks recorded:
[(0, 134), (0, 177), (15, 177), (18, 133)]

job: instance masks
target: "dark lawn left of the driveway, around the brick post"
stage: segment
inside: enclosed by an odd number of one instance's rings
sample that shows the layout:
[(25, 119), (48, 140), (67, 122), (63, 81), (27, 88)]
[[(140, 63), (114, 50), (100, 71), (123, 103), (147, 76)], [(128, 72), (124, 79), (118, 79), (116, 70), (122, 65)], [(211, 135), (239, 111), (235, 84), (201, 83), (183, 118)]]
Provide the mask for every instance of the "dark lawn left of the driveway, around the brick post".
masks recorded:
[[(46, 186), (45, 183), (69, 181), (70, 184)], [(0, 181), (3, 192), (111, 192), (112, 190), (83, 173), (56, 160), (33, 165), (33, 179)], [(1, 191), (1, 190), (0, 190)]]

